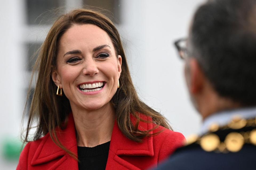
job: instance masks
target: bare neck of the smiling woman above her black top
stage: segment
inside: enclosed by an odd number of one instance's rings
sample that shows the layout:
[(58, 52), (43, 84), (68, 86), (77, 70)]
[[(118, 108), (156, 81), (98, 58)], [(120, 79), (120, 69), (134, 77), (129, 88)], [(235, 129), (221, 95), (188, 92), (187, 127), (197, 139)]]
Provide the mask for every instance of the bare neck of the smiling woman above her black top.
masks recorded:
[(89, 111), (73, 107), (72, 112), (77, 146), (94, 147), (110, 141), (115, 121), (115, 110), (110, 103)]

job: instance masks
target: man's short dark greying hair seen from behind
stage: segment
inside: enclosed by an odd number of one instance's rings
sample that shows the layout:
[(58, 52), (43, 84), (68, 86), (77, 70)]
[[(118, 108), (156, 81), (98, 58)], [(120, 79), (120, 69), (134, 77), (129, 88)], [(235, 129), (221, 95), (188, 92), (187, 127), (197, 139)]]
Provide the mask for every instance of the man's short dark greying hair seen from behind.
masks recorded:
[(210, 0), (200, 6), (189, 46), (220, 96), (256, 104), (256, 0)]

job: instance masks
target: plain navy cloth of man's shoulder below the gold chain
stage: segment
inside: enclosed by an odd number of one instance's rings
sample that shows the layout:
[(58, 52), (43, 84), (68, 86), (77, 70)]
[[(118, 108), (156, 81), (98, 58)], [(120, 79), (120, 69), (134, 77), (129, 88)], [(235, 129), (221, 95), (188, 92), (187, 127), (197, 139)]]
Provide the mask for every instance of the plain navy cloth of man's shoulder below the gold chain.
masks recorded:
[(242, 150), (235, 153), (217, 153), (204, 151), (200, 145), (193, 143), (178, 148), (157, 169), (253, 169), (255, 156), (256, 146), (253, 145), (245, 145)]

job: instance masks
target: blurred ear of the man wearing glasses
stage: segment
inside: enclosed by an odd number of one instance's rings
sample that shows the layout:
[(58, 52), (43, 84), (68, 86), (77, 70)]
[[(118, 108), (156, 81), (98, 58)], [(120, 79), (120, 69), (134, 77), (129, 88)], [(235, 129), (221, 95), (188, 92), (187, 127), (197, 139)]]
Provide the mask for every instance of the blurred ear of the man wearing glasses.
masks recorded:
[(205, 83), (205, 75), (196, 59), (191, 58), (189, 61), (190, 67), (190, 92), (191, 94), (198, 94), (202, 91)]

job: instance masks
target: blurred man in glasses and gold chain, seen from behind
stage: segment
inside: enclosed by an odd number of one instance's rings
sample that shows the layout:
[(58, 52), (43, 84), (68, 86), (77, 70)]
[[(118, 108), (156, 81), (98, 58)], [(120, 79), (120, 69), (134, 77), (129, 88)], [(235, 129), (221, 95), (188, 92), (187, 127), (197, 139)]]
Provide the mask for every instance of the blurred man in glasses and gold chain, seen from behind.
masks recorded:
[(175, 45), (203, 126), (158, 169), (256, 169), (256, 1), (208, 1)]

